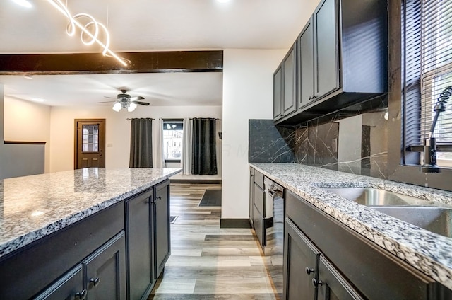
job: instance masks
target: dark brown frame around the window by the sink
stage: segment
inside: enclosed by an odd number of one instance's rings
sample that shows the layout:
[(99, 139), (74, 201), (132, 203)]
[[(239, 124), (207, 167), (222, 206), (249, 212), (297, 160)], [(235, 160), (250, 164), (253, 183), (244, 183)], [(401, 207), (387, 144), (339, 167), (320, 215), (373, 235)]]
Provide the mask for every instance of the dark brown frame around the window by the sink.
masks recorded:
[(451, 190), (452, 169), (443, 168), (441, 173), (422, 173), (420, 166), (405, 163), (405, 137), (402, 132), (403, 113), (402, 99), (405, 97), (403, 86), (405, 81), (404, 53), (402, 45), (403, 4), (407, 0), (388, 1), (388, 179), (401, 183), (428, 186), (441, 190)]

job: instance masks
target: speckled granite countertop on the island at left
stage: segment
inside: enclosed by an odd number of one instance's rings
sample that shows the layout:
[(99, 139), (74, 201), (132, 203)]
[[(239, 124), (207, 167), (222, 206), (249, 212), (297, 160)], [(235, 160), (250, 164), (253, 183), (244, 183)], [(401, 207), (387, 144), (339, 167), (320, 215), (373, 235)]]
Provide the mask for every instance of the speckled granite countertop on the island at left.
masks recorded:
[(0, 180), (0, 258), (180, 171), (85, 168)]

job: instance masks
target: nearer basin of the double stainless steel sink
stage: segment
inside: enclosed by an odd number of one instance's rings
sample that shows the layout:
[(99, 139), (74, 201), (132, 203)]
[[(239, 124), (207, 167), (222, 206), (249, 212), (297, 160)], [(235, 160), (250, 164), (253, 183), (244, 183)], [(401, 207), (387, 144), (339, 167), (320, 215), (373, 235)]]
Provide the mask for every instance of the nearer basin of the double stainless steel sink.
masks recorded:
[(445, 207), (372, 207), (441, 236), (452, 238), (452, 209)]

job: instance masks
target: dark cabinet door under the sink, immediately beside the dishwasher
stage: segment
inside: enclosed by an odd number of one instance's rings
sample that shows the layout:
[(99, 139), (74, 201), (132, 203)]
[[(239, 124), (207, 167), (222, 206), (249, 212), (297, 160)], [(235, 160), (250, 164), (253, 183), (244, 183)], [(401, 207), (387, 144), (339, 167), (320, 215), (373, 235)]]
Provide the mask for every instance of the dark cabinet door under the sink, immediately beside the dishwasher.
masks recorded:
[(297, 226), (285, 219), (284, 236), (284, 298), (285, 300), (315, 300), (319, 250)]

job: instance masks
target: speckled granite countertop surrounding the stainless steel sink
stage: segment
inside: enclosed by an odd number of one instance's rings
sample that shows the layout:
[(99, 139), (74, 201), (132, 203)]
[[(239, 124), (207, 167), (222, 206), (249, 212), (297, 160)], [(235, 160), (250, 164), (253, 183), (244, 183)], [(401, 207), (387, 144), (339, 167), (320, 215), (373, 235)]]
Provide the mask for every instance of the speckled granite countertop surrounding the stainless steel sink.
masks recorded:
[(322, 188), (380, 188), (452, 204), (452, 192), (298, 163), (250, 163), (331, 217), (452, 289), (452, 238), (420, 229)]

